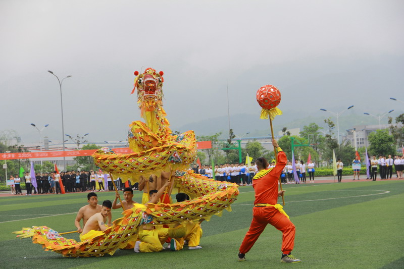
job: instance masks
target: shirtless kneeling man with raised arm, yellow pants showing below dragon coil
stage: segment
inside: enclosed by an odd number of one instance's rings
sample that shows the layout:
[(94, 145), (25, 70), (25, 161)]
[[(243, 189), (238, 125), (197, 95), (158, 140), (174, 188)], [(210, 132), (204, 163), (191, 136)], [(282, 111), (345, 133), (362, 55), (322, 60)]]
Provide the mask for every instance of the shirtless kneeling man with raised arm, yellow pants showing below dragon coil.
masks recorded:
[[(170, 186), (170, 181), (166, 181), (159, 191), (150, 190), (149, 200), (142, 204), (135, 204), (138, 208), (146, 209), (148, 204), (156, 204), (160, 201), (160, 197), (167, 187)], [(139, 229), (138, 238), (133, 248), (135, 252), (159, 252), (163, 250), (163, 244), (168, 238), (168, 228), (156, 229), (153, 225), (145, 224)]]

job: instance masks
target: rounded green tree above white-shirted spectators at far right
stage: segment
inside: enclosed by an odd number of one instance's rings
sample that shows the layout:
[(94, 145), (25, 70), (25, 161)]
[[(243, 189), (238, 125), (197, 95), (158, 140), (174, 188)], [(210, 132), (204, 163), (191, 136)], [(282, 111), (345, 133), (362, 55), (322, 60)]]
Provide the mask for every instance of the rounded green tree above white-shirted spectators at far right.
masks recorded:
[(395, 141), (392, 135), (388, 133), (388, 130), (376, 130), (368, 135), (368, 141), (370, 143), (369, 151), (372, 155), (393, 155), (395, 152)]

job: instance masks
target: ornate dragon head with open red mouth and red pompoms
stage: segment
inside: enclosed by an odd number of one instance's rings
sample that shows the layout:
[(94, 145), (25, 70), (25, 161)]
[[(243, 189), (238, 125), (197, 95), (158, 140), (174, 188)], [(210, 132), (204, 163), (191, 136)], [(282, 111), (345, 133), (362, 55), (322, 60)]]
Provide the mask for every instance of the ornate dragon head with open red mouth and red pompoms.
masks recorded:
[(135, 82), (132, 93), (137, 88), (137, 103), (142, 111), (153, 111), (162, 105), (163, 71), (156, 73), (153, 68), (147, 68), (142, 74), (135, 71)]

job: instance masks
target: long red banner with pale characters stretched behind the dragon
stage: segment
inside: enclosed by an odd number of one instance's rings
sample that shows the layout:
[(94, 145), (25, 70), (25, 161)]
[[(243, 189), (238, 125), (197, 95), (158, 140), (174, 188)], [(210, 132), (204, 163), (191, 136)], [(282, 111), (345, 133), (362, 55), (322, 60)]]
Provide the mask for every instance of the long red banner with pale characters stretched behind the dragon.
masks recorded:
[[(212, 141), (196, 142), (197, 149), (212, 148)], [(128, 154), (133, 151), (128, 147), (112, 148), (115, 153)], [(54, 157), (77, 157), (91, 156), (96, 149), (69, 150), (69, 151), (41, 151), (41, 152), (13, 152), (0, 153), (0, 160), (3, 159), (33, 159), (33, 158), (54, 158)]]

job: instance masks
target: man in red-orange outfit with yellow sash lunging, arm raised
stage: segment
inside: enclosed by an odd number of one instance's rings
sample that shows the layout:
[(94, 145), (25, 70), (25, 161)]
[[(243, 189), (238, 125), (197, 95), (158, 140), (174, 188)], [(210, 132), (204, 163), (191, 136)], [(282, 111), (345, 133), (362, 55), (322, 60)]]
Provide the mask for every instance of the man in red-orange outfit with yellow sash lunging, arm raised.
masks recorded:
[(255, 206), (252, 209), (251, 226), (239, 249), (239, 261), (245, 260), (245, 253), (251, 249), (267, 224), (271, 224), (282, 232), (281, 262), (300, 262), (291, 254), (294, 245), (294, 225), (282, 206), (276, 204), (278, 197), (284, 193), (284, 191), (278, 192), (278, 179), (286, 165), (287, 158), (276, 140), (272, 140), (272, 144), (277, 147), (278, 163), (274, 168), (266, 169), (268, 162), (265, 158), (260, 157), (256, 161), (259, 172), (252, 178), (252, 187), (256, 193)]

